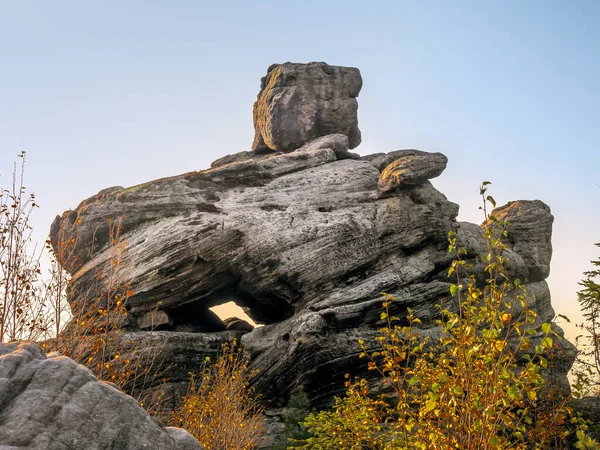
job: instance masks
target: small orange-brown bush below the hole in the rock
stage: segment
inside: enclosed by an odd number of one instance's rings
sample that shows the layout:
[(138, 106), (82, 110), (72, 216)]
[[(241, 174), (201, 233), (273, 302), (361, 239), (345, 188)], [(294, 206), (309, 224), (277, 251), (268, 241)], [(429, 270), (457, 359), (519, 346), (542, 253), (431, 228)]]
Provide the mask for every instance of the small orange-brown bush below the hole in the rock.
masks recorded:
[(264, 408), (249, 386), (250, 358), (236, 341), (225, 343), (213, 364), (192, 375), (171, 423), (189, 431), (206, 450), (251, 450), (263, 433)]

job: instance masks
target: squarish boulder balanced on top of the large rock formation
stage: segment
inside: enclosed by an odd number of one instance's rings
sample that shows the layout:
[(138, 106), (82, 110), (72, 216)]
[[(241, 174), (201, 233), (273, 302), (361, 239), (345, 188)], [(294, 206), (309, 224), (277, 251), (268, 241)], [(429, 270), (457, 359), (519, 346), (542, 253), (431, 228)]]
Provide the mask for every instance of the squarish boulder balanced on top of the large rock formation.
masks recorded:
[(358, 69), (322, 62), (273, 64), (254, 104), (254, 151), (289, 152), (306, 142), (341, 133), (349, 148), (360, 144)]

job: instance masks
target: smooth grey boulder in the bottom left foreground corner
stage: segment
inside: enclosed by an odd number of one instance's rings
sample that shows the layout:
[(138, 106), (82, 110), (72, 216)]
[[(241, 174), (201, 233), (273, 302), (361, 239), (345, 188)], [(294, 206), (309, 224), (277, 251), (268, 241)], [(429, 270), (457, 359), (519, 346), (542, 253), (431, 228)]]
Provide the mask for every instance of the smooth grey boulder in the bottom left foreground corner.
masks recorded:
[(201, 450), (73, 360), (29, 342), (0, 344), (0, 448)]

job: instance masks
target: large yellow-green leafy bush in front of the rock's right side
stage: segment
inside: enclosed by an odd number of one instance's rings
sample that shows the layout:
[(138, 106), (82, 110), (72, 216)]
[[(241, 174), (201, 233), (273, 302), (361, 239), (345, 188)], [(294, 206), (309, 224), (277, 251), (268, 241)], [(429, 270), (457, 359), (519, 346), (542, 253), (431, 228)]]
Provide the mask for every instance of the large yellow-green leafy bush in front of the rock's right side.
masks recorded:
[[(382, 377), (393, 395), (373, 399), (368, 383), (348, 383), (346, 396), (332, 411), (309, 415), (304, 425), (313, 436), (304, 449), (547, 449), (565, 448), (572, 417), (566, 398), (546, 395), (543, 376), (553, 340), (551, 323), (539, 323), (525, 287), (505, 270), (507, 223), (488, 215), (484, 200), (487, 279), (469, 275), (466, 251), (449, 233), (456, 254), (448, 276), (448, 305), (438, 305), (437, 333), (425, 335), (409, 311), (389, 315), (395, 299), (386, 295), (380, 349), (359, 341), (369, 369)], [(392, 398), (392, 400), (389, 400)]]

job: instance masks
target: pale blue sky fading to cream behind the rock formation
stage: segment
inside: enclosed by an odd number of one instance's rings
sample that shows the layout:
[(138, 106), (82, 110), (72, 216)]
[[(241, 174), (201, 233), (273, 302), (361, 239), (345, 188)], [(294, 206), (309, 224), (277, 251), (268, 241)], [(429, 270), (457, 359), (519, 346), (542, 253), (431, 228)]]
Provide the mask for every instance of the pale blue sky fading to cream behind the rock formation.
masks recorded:
[(595, 0), (0, 0), (0, 185), (26, 150), (42, 240), (103, 188), (248, 150), (271, 63), (354, 66), (358, 153), (444, 153), (433, 183), (461, 220), (481, 222), (483, 180), (551, 207), (553, 305), (577, 321), (600, 256), (599, 23)]

